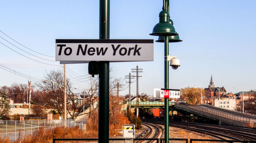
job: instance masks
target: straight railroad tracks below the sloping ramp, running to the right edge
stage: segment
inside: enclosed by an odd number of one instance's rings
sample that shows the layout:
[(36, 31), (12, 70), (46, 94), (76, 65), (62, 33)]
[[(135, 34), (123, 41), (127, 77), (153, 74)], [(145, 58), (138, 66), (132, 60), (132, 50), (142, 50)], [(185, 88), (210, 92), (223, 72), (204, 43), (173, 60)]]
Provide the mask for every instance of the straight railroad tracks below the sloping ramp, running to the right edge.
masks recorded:
[[(143, 120), (155, 124), (164, 125), (163, 120)], [(251, 128), (240, 128), (233, 126), (218, 126), (200, 123), (188, 122), (169, 122), (169, 126), (183, 128), (203, 134), (208, 134), (219, 139), (234, 139), (234, 140), (256, 140), (256, 130)]]

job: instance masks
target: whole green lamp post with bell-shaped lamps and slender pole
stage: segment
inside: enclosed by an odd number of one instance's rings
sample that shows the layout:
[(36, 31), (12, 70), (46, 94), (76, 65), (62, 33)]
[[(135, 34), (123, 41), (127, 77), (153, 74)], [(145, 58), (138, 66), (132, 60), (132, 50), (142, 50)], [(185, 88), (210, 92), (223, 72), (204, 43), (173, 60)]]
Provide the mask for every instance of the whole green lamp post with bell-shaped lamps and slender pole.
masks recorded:
[[(166, 6), (168, 8), (166, 8)], [(167, 56), (169, 53), (169, 42), (172, 38), (177, 38), (178, 33), (175, 31), (172, 20), (170, 19), (169, 12), (169, 0), (163, 0), (163, 8), (159, 13), (159, 23), (157, 23), (153, 32), (150, 35), (162, 37), (161, 41), (164, 42), (164, 88), (169, 88), (169, 64)], [(160, 38), (159, 37), (159, 38)], [(179, 41), (176, 41), (179, 42)], [(169, 98), (164, 98), (164, 142), (169, 142)]]

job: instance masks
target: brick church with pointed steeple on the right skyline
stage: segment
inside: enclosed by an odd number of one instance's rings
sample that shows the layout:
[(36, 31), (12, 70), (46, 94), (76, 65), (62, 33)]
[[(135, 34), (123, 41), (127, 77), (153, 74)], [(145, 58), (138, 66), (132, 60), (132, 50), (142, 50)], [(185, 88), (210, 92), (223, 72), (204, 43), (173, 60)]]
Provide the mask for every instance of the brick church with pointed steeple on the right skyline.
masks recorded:
[(214, 99), (219, 99), (226, 95), (227, 91), (224, 87), (215, 87), (214, 80), (212, 80), (212, 75), (210, 77), (210, 83), (208, 88), (204, 89), (204, 96), (208, 104), (214, 105)]

